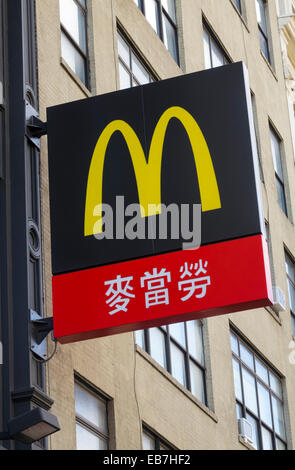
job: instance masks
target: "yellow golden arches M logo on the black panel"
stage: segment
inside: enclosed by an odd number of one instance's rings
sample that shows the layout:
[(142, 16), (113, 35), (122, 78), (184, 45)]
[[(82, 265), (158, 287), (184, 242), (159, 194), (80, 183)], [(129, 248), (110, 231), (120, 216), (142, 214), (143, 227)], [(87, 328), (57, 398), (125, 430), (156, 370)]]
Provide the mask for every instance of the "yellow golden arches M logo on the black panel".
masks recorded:
[(136, 133), (125, 121), (112, 121), (103, 130), (95, 146), (89, 169), (85, 205), (85, 237), (102, 232), (101, 205), (104, 160), (109, 141), (117, 131), (123, 135), (132, 159), (141, 216), (148, 217), (161, 213), (162, 153), (166, 130), (172, 118), (176, 118), (182, 123), (191, 143), (199, 181), (202, 211), (221, 208), (215, 171), (203, 133), (190, 113), (179, 106), (173, 106), (162, 114), (156, 125), (148, 162)]

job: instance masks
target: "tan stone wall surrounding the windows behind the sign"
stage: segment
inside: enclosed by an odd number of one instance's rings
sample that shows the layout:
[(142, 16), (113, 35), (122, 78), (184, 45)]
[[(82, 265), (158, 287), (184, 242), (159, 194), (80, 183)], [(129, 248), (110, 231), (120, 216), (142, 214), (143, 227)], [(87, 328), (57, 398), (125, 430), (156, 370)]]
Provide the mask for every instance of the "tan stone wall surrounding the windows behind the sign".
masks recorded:
[[(36, 0), (41, 118), (46, 107), (90, 96), (61, 63), (58, 0)], [(233, 61), (243, 60), (255, 94), (265, 183), (265, 218), (270, 224), (275, 282), (286, 294), (284, 244), (295, 256), (294, 158), (283, 77), (275, 4), (269, 2), (273, 69), (260, 53), (254, 1), (244, 1), (241, 20), (230, 0), (177, 0), (182, 70), (174, 62), (133, 0), (92, 0), (89, 8), (91, 86), (100, 94), (118, 89), (116, 19), (151, 69), (161, 79), (204, 68), (202, 14)], [(269, 138), (269, 119), (284, 141), (290, 219), (277, 204)], [(46, 138), (42, 139), (42, 217), (46, 314), (52, 315), (50, 220)], [(288, 174), (288, 176), (287, 176)], [(238, 262), (238, 260), (237, 260)], [(81, 312), (86, 314), (86, 312)], [(75, 448), (74, 372), (113, 400), (111, 445), (141, 448), (141, 421), (180, 449), (246, 449), (238, 439), (229, 322), (284, 377), (288, 445), (295, 447), (295, 366), (288, 361), (292, 339), (289, 310), (276, 320), (266, 309), (205, 320), (209, 408), (135, 348), (133, 334), (59, 346), (47, 365), (48, 393), (62, 430), (51, 449)], [(137, 352), (136, 352), (137, 349)], [(138, 406), (137, 406), (138, 403)], [(289, 411), (288, 411), (289, 410)]]

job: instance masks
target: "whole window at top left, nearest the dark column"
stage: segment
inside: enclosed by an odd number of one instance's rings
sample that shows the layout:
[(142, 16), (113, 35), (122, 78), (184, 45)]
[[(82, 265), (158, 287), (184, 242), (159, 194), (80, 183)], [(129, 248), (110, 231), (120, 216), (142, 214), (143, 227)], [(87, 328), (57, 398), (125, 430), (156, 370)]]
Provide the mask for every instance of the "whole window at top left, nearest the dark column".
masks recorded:
[(59, 6), (62, 58), (88, 86), (86, 0), (59, 0)]

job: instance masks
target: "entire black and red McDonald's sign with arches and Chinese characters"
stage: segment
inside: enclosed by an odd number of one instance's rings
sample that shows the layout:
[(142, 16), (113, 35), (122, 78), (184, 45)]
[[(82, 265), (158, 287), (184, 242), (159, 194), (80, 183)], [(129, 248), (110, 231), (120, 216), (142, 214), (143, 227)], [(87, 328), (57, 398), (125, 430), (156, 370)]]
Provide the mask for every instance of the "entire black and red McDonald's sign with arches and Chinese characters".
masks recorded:
[[(47, 123), (60, 342), (271, 304), (242, 63), (54, 106)], [(183, 250), (196, 207), (200, 247)]]

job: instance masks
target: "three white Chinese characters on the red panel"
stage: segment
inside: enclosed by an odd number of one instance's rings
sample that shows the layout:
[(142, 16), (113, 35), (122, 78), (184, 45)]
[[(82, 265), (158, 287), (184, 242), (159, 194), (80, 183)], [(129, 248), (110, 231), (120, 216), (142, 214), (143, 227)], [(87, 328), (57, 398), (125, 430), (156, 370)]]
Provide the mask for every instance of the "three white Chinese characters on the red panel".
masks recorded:
[[(193, 295), (200, 299), (206, 296), (207, 286), (211, 285), (211, 277), (207, 275), (208, 261), (200, 259), (196, 263), (185, 262), (179, 269), (179, 282), (178, 290), (185, 293), (180, 299), (185, 302)], [(171, 272), (162, 268), (158, 271), (153, 268), (152, 273), (145, 272), (144, 276), (140, 278), (140, 287), (145, 289), (145, 308), (149, 309), (155, 305), (169, 305), (169, 286), (171, 283)], [(107, 297), (106, 304), (109, 307), (114, 307), (110, 310), (109, 315), (114, 315), (118, 312), (127, 312), (128, 304), (135, 295), (132, 293), (133, 287), (131, 285), (134, 281), (133, 276), (122, 278), (118, 275), (116, 279), (105, 281), (105, 285), (109, 286), (105, 295)]]

